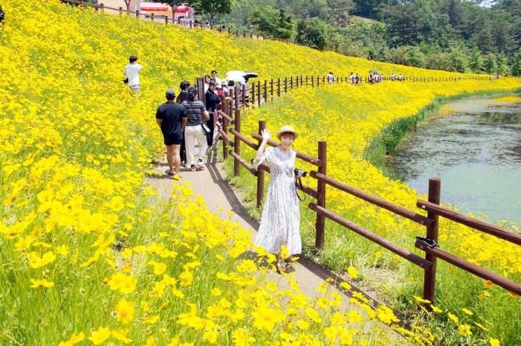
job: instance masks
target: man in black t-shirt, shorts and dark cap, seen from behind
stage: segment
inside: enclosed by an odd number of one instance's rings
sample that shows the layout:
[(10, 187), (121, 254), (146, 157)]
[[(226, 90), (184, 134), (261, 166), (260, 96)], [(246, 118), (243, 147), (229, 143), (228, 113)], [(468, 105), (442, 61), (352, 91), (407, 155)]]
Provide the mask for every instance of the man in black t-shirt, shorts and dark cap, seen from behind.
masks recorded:
[(187, 125), (187, 112), (182, 104), (175, 103), (175, 91), (167, 89), (166, 102), (157, 107), (156, 122), (163, 132), (166, 146), (166, 160), (168, 167), (166, 174), (179, 180), (181, 158), (179, 155), (181, 141), (183, 140), (183, 129)]

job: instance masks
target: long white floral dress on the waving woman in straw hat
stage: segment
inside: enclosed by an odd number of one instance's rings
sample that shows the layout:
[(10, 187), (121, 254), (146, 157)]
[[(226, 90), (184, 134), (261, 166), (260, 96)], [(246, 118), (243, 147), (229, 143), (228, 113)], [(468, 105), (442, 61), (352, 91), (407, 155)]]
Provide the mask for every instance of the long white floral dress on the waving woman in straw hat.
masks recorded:
[(279, 254), (281, 245), (292, 255), (302, 252), (299, 200), (293, 177), (296, 157), (294, 150), (284, 153), (277, 147), (264, 151), (259, 162), (254, 161), (256, 166), (269, 164), (271, 172), (255, 245), (272, 254)]

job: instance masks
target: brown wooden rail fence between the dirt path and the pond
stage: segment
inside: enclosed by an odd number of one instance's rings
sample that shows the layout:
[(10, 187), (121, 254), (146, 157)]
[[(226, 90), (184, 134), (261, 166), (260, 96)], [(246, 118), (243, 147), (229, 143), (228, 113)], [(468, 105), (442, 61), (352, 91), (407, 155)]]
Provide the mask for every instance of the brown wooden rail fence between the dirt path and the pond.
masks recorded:
[[(288, 80), (290, 81), (289, 84)], [(241, 92), (241, 90), (236, 87), (231, 89), (232, 97), (221, 103), (221, 110), (219, 111), (219, 114), (222, 116), (223, 125), (222, 128), (219, 129), (219, 134), (223, 139), (224, 158), (228, 158), (228, 155), (231, 155), (231, 157), (234, 158), (235, 177), (238, 177), (239, 174), (241, 174), (241, 166), (243, 166), (249, 172), (249, 174), (253, 174), (255, 177), (257, 177), (257, 207), (262, 205), (262, 200), (264, 198), (264, 176), (266, 172), (270, 173), (270, 170), (266, 165), (259, 165), (257, 168), (250, 165), (250, 162), (241, 156), (241, 144), (245, 144), (250, 148), (257, 150), (262, 141), (261, 131), (266, 128), (266, 121), (260, 120), (258, 124), (258, 132), (251, 134), (250, 137), (248, 137), (241, 132), (241, 113), (250, 104), (261, 104), (262, 102), (267, 102), (269, 99), (273, 99), (273, 97), (276, 95), (280, 95), (280, 93), (283, 91), (286, 92), (287, 90), (290, 90), (291, 88), (297, 88), (300, 85), (312, 85), (314, 87), (318, 87), (321, 85), (320, 83), (324, 81), (323, 78), (317, 78), (315, 79), (315, 82), (311, 82), (312, 80), (313, 78), (309, 78), (309, 76), (306, 76), (305, 78), (298, 76), (295, 77), (295, 79), (291, 77), (289, 79), (284, 78), (283, 84), (280, 82), (280, 78), (278, 78), (276, 82), (274, 82), (273, 79), (270, 82), (264, 81), (261, 83), (259, 81), (257, 82), (257, 93), (255, 92), (255, 87), (253, 87), (253, 83), (250, 87), (250, 102), (248, 102), (248, 97), (245, 94), (245, 88), (243, 88)], [(316, 83), (317, 81), (318, 83)], [(335, 79), (335, 83), (346, 83), (346, 81), (349, 80), (344, 78)], [(202, 83), (202, 78), (198, 78), (198, 83)], [(264, 87), (259, 87), (258, 85), (264, 85)], [(266, 87), (266, 85), (270, 86)], [(272, 85), (275, 85), (275, 87)], [(283, 85), (282, 90), (280, 90), (280, 85)], [(229, 125), (234, 125), (234, 127), (228, 128)], [(230, 135), (234, 136), (233, 140), (230, 138)], [(276, 147), (279, 144), (276, 141), (270, 140), (268, 141), (268, 145)], [(497, 275), (490, 270), (470, 263), (464, 258), (459, 258), (458, 256), (454, 256), (453, 254), (449, 254), (447, 251), (440, 249), (438, 245), (438, 219), (440, 217), (445, 217), (446, 219), (461, 223), (465, 226), (471, 227), (481, 232), (485, 232), (489, 235), (499, 237), (508, 242), (512, 242), (513, 244), (521, 245), (521, 234), (519, 233), (505, 230), (498, 226), (492, 225), (491, 223), (486, 223), (484, 221), (471, 218), (470, 216), (466, 216), (464, 214), (460, 214), (454, 212), (451, 209), (440, 206), (440, 179), (429, 179), (428, 200), (417, 201), (417, 207), (419, 207), (421, 211), (427, 212), (427, 216), (424, 216), (419, 214), (419, 210), (410, 210), (405, 207), (395, 205), (392, 202), (388, 202), (377, 196), (370, 195), (369, 193), (360, 191), (353, 186), (349, 186), (342, 183), (341, 181), (333, 179), (332, 177), (328, 177), (327, 143), (325, 141), (318, 141), (316, 157), (297, 151), (297, 159), (311, 163), (311, 165), (317, 167), (316, 170), (312, 170), (310, 172), (310, 176), (313, 179), (316, 179), (316, 189), (309, 187), (301, 188), (300, 186), (297, 186), (299, 190), (303, 191), (306, 193), (306, 195), (309, 195), (311, 198), (316, 200), (316, 202), (310, 202), (308, 207), (309, 209), (316, 212), (315, 247), (317, 250), (322, 249), (324, 245), (325, 219), (327, 218), (341, 226), (344, 226), (344, 228), (347, 228), (354, 233), (357, 233), (358, 235), (361, 235), (368, 240), (379, 244), (379, 246), (392, 251), (394, 254), (405, 258), (405, 260), (414, 263), (414, 265), (417, 265), (422, 270), (424, 270), (423, 298), (429, 300), (431, 303), (434, 302), (435, 298), (436, 262), (438, 258), (440, 258), (442, 261), (452, 263), (452, 265), (456, 265), (457, 267), (467, 272), (471, 272), (473, 275), (481, 277), (482, 279), (490, 280), (491, 282), (494, 282), (494, 284), (503, 287), (503, 289), (507, 289), (508, 291), (521, 295), (521, 284), (510, 279), (506, 279), (505, 277)], [(417, 249), (424, 251), (425, 256), (418, 256), (417, 254), (400, 247), (398, 244), (395, 244), (389, 240), (386, 240), (384, 237), (377, 235), (377, 233), (374, 233), (371, 230), (367, 230), (366, 228), (363, 228), (362, 226), (328, 210), (326, 207), (326, 187), (334, 188), (339, 191), (343, 191), (344, 193), (349, 193), (356, 198), (365, 200), (372, 205), (386, 209), (393, 214), (424, 226), (426, 228), (425, 236), (416, 237), (414, 240), (414, 246), (417, 247)], [(426, 308), (430, 309), (430, 306), (426, 304)]]

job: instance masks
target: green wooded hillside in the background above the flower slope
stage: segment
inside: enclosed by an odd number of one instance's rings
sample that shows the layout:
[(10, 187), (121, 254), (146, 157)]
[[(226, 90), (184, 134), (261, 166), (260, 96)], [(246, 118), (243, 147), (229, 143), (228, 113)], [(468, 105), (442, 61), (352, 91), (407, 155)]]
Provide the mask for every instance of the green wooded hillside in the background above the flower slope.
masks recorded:
[(377, 61), (521, 75), (521, 0), (226, 1), (213, 24)]

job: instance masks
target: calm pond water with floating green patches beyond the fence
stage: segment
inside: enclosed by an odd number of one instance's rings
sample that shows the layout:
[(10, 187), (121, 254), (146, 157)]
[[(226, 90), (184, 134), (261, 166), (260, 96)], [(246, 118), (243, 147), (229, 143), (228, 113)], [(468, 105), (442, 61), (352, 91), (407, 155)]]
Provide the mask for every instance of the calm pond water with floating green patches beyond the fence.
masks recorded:
[(444, 104), (410, 130), (386, 167), (419, 193), (440, 177), (442, 202), (521, 226), (520, 95)]

